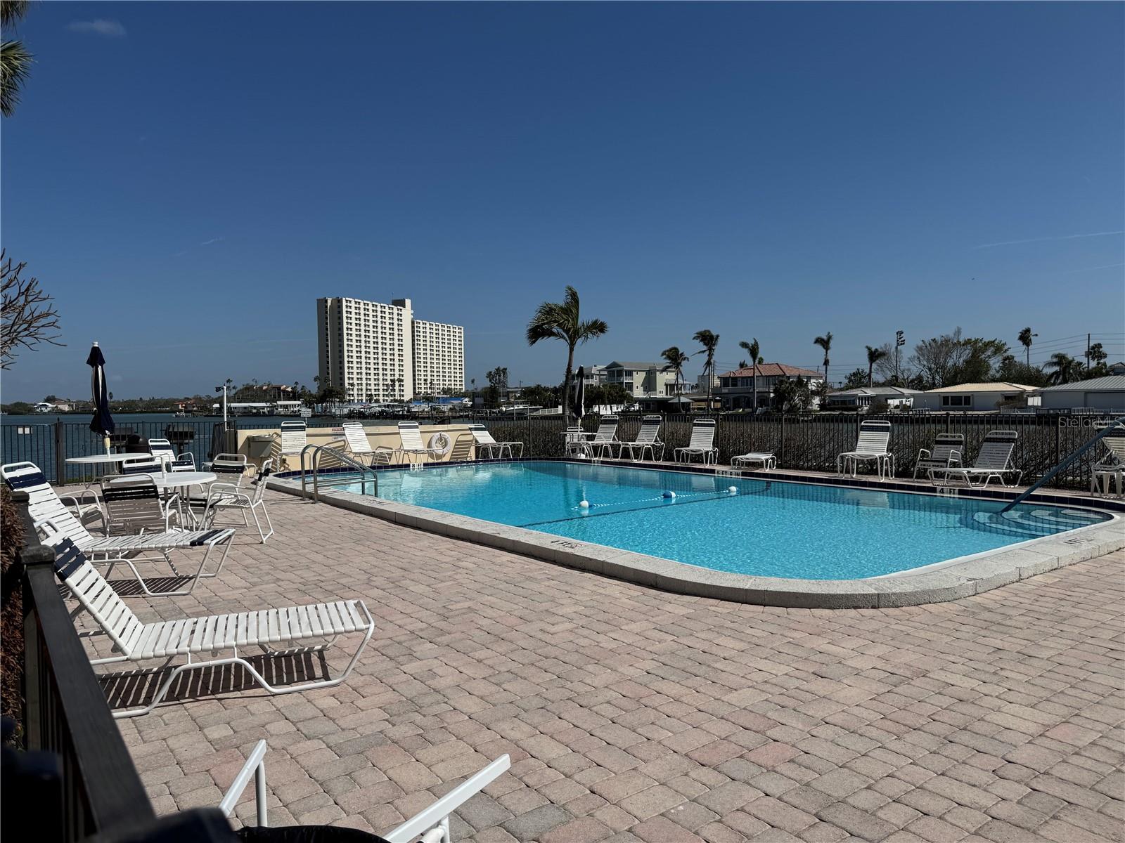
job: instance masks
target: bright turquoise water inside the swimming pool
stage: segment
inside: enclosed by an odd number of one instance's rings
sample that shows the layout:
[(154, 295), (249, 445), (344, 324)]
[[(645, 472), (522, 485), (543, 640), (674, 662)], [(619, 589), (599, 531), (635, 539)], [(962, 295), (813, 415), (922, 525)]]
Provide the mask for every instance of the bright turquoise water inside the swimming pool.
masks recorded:
[(1001, 516), (1002, 502), (567, 462), (380, 471), (378, 479), (387, 500), (798, 579), (878, 577), (1108, 518), (1040, 504)]

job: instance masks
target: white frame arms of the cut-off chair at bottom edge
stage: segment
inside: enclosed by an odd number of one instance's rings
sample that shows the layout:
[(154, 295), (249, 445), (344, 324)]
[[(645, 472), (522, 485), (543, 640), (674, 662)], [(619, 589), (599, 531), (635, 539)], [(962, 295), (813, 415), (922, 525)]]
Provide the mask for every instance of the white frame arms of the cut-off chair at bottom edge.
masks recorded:
[[(266, 805), (266, 752), (264, 740), (254, 744), (246, 762), (242, 765), (231, 787), (223, 795), (223, 800), (218, 804), (219, 810), (227, 817), (234, 813), (238, 799), (254, 779), (255, 814), (258, 825), (262, 828), (269, 826), (269, 814)], [(492, 785), (512, 765), (512, 760), (505, 754), (489, 763), (484, 769), (470, 776), (443, 797), (405, 823), (382, 835), (387, 843), (451, 843), (449, 835), (449, 817), (465, 803)]]

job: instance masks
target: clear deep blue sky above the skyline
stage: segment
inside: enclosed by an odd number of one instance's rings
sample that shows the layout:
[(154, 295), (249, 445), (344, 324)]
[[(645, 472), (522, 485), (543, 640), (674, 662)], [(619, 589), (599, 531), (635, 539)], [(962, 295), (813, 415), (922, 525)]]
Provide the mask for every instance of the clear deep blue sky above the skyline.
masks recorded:
[[(310, 383), (315, 299), (466, 326), (467, 379), (564, 284), (579, 362), (720, 334), (832, 379), (897, 328), (1125, 352), (1120, 3), (33, 7), (9, 256), (65, 348), (3, 399)], [(1082, 335), (1078, 338), (1078, 335)], [(1055, 341), (1059, 342), (1047, 342)], [(699, 371), (693, 361), (690, 374)]]

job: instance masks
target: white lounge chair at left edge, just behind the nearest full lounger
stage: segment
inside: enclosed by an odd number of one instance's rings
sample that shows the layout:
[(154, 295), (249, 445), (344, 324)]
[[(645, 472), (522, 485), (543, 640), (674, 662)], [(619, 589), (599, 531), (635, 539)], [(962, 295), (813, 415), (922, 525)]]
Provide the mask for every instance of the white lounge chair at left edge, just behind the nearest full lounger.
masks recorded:
[[(124, 563), (133, 571), (141, 583), (142, 590), (146, 595), (171, 597), (181, 593), (190, 593), (199, 579), (210, 579), (217, 577), (223, 570), (226, 554), (231, 550), (231, 537), (233, 529), (196, 529), (196, 531), (169, 531), (165, 533), (142, 533), (136, 536), (94, 536), (86, 528), (73, 513), (71, 513), (55, 493), (55, 490), (43, 477), (35, 463), (16, 462), (0, 465), (0, 477), (11, 489), (22, 489), (28, 493), (29, 501), (27, 511), (35, 523), (36, 529), (43, 534), (58, 535), (60, 538), (70, 538), (84, 553), (97, 556), (99, 562), (110, 565)], [(213, 573), (204, 573), (207, 559), (217, 545), (224, 545), (223, 556)], [(140, 558), (138, 554), (146, 552), (160, 553), (165, 562), (172, 565), (169, 552), (174, 550), (189, 550), (202, 547), (204, 558), (199, 561), (199, 566), (192, 574), (191, 586), (187, 590), (179, 591), (152, 591), (147, 582), (134, 566), (134, 562), (151, 561), (152, 558)], [(177, 575), (174, 565), (172, 570)]]

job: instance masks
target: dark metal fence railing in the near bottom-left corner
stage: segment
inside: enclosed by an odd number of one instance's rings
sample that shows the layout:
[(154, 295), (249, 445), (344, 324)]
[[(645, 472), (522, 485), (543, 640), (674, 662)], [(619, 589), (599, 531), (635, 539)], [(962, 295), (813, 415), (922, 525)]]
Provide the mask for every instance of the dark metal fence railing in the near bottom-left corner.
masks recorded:
[[(24, 741), (27, 751), (51, 753), (57, 762), (52, 774), (40, 768), (34, 779), (34, 804), (54, 803), (54, 810), (32, 819), (36, 836), (123, 834), (151, 823), (152, 805), (60, 593), (54, 551), (35, 538), (27, 492), (12, 498), (25, 536), (16, 555), (24, 575)], [(4, 807), (21, 812), (7, 799), (10, 785), (6, 774)]]

